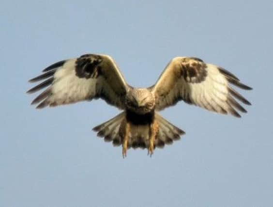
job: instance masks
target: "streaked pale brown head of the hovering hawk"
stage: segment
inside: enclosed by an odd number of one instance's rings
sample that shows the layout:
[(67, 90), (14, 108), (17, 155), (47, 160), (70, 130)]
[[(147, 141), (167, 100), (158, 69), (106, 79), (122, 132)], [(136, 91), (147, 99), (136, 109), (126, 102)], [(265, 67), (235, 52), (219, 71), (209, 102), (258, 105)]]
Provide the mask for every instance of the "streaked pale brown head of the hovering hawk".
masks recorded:
[(125, 98), (126, 108), (138, 114), (145, 114), (154, 110), (155, 99), (146, 88), (133, 88)]

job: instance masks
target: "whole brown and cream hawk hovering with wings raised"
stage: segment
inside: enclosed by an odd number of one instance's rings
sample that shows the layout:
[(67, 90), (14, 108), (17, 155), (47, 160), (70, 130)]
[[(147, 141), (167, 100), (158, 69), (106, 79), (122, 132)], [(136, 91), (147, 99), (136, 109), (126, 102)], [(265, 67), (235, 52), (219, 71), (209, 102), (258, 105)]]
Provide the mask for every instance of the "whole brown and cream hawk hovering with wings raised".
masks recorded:
[(157, 112), (180, 100), (235, 117), (241, 117), (237, 111), (246, 112), (237, 100), (251, 105), (231, 85), (245, 90), (251, 87), (224, 68), (194, 57), (173, 58), (149, 88), (130, 86), (108, 55), (85, 54), (52, 64), (43, 72), (30, 82), (43, 81), (27, 92), (49, 86), (32, 101), (38, 104), (37, 109), (101, 98), (122, 110), (93, 130), (106, 142), (122, 145), (123, 158), (130, 147), (147, 148), (152, 155), (156, 147), (180, 139), (184, 131)]

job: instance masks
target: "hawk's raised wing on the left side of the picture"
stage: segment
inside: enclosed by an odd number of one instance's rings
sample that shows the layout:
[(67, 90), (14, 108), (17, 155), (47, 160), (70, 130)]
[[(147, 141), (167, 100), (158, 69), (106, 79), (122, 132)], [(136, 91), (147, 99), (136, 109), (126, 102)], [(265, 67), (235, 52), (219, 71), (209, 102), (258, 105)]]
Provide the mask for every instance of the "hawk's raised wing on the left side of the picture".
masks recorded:
[(30, 80), (43, 82), (27, 92), (31, 94), (49, 86), (31, 103), (38, 104), (38, 109), (93, 98), (102, 98), (108, 104), (124, 109), (128, 86), (110, 56), (86, 54), (52, 64), (43, 72)]

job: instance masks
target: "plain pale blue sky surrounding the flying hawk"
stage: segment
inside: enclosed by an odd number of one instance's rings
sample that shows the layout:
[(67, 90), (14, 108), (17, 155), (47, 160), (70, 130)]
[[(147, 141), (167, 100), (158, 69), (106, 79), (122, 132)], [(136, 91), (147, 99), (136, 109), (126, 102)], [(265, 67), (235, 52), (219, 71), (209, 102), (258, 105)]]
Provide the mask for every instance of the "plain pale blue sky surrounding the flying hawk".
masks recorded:
[[(3, 1), (0, 207), (273, 206), (273, 1)], [(111, 55), (129, 84), (152, 85), (194, 56), (237, 75), (241, 119), (183, 102), (161, 114), (186, 131), (152, 158), (96, 137), (105, 102), (35, 110), (30, 78), (85, 53)], [(145, 74), (145, 75), (144, 75)]]

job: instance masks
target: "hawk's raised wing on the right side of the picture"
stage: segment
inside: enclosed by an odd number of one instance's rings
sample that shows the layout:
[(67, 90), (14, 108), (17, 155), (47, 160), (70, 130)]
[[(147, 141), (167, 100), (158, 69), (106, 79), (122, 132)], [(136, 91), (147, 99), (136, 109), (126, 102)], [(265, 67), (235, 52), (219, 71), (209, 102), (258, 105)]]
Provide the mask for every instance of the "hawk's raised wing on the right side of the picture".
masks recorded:
[(245, 90), (252, 89), (221, 67), (206, 64), (198, 58), (176, 57), (150, 90), (156, 97), (156, 110), (183, 100), (209, 111), (241, 117), (236, 110), (246, 110), (236, 99), (246, 105), (251, 104), (230, 84)]

